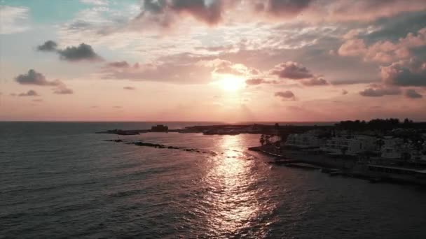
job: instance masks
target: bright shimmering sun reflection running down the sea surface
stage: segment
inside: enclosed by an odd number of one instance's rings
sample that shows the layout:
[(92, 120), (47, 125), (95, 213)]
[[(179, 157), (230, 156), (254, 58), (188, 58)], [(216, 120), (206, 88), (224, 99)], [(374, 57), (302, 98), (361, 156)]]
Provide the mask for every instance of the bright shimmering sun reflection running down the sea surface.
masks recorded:
[(253, 161), (241, 147), (240, 136), (224, 136), (219, 140), (221, 154), (206, 176), (210, 185), (206, 201), (210, 204), (208, 222), (212, 233), (235, 235), (252, 226), (262, 210)]

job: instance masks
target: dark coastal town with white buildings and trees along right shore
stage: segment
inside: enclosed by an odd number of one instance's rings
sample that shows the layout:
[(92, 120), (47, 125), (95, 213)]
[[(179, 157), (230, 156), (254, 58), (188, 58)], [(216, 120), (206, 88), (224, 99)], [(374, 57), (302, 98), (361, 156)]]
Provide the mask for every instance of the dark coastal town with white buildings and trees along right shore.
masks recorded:
[(297, 133), (275, 124), (275, 133), (262, 134), (261, 146), (251, 150), (270, 154), (275, 164), (310, 164), (331, 175), (426, 185), (425, 129), (426, 123), (409, 119), (344, 121)]

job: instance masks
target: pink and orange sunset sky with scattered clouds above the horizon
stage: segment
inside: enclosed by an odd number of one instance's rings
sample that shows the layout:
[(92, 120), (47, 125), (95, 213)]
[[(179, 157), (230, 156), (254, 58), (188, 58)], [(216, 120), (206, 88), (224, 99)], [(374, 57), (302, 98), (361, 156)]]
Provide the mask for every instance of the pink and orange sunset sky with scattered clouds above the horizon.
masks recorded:
[(0, 120), (426, 121), (424, 0), (0, 0)]

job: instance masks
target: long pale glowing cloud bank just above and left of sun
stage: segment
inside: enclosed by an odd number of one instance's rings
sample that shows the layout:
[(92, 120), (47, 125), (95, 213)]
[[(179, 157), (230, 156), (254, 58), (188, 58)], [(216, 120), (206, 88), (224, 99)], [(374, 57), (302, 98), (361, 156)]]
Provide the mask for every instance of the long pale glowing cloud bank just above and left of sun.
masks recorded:
[(221, 80), (224, 75), (251, 78), (253, 72), (259, 73), (258, 70), (244, 64), (235, 64), (232, 61), (217, 59), (215, 56), (184, 53), (167, 55), (146, 64), (110, 62), (102, 67), (99, 74), (103, 79), (201, 84)]

